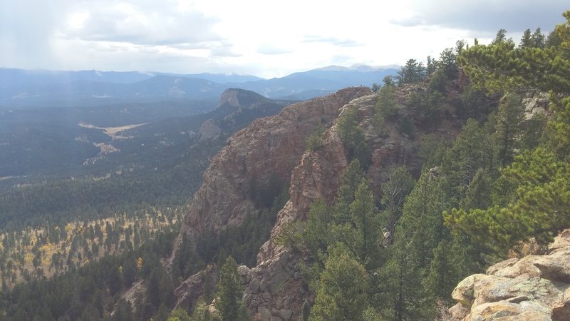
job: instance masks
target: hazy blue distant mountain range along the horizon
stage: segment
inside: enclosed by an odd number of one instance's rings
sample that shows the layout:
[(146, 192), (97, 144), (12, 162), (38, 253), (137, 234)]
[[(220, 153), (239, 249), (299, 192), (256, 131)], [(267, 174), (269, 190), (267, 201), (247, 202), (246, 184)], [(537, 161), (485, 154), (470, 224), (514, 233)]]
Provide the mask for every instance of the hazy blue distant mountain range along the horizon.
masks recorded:
[(328, 66), (282, 78), (264, 79), (239, 74), (0, 68), (0, 106), (216, 99), (227, 88), (247, 89), (267, 98), (304, 100), (348, 86), (371, 86), (396, 71), (391, 66)]

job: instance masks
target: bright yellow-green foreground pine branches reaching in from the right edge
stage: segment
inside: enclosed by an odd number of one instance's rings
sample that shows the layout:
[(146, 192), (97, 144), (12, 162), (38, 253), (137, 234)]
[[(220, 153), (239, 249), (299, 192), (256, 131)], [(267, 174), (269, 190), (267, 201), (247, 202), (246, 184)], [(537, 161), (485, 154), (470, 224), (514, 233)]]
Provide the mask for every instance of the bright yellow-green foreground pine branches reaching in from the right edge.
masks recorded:
[[(472, 80), (487, 90), (551, 91), (553, 116), (546, 125), (545, 143), (522, 151), (501, 170), (497, 185), (507, 188), (502, 188), (500, 201), (487, 209), (454, 208), (444, 213), (445, 225), (454, 235), (467, 234), (479, 244), (509, 248), (530, 237), (546, 243), (570, 224), (570, 98), (560, 99), (570, 94), (566, 52), (570, 49), (570, 11), (564, 17), (566, 23), (555, 29), (561, 39), (559, 47), (514, 50), (477, 46), (462, 58)], [(540, 30), (535, 34), (539, 39)], [(489, 69), (491, 64), (494, 69)]]

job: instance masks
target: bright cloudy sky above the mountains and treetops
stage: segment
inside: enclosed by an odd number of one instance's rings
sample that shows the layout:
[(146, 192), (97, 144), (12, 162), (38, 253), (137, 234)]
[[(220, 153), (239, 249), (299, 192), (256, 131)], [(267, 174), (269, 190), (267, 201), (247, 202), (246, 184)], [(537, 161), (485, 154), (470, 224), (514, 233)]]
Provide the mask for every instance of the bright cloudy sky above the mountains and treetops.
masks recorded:
[(425, 61), (499, 29), (548, 33), (568, 0), (0, 0), (0, 67), (242, 73)]

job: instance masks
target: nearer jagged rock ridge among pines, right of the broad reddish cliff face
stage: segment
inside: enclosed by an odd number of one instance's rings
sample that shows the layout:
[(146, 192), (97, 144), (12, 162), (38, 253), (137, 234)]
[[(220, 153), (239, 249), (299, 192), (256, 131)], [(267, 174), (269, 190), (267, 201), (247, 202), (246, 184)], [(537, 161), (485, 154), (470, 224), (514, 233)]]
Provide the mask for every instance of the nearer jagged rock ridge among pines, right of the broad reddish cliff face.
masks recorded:
[[(405, 97), (398, 108), (405, 113)], [(366, 95), (353, 99), (338, 111), (339, 117), (356, 109), (358, 127), (363, 130), (366, 143), (371, 148), (372, 163), (366, 175), (371, 188), (380, 193), (380, 184), (386, 180), (388, 168), (405, 163), (410, 171), (419, 170), (421, 163), (411, 157), (418, 141), (400, 133), (392, 123), (385, 123), (383, 131), (375, 123), (375, 105), (378, 97)], [(422, 128), (418, 128), (422, 131)], [(418, 135), (419, 136), (419, 135)], [(337, 123), (322, 136), (323, 144), (317, 151), (305, 151), (299, 164), (291, 172), (290, 199), (277, 214), (271, 237), (261, 246), (257, 255), (257, 267), (240, 267), (245, 285), (244, 301), (252, 315), (259, 320), (296, 320), (305, 300), (312, 301), (312, 293), (302, 280), (297, 266), (301, 258), (290, 248), (277, 242), (281, 229), (291, 221), (304, 221), (309, 206), (323, 199), (331, 204), (339, 188), (341, 176), (348, 166)]]

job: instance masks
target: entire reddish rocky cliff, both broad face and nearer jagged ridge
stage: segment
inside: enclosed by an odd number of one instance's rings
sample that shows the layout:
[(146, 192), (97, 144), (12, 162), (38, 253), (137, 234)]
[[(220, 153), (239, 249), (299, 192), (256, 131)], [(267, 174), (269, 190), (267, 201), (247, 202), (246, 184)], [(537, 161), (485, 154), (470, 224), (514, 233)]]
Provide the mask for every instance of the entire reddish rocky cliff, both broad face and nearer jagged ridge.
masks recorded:
[[(413, 112), (405, 108), (408, 95), (404, 92), (398, 95), (401, 98), (398, 108), (403, 116)], [(171, 263), (177, 256), (182, 235), (189, 235), (192, 240), (207, 231), (219, 232), (241, 224), (247, 212), (255, 207), (250, 196), (255, 188), (252, 178), (263, 186), (271, 175), (278, 175), (290, 182), (289, 201), (277, 214), (271, 237), (259, 250), (257, 266), (241, 266), (239, 272), (245, 287), (244, 301), (253, 316), (261, 320), (296, 320), (303, 302), (311, 299), (297, 266), (304, 258), (275, 240), (284, 224), (306, 219), (314, 200), (323, 198), (331, 203), (336, 195), (348, 165), (336, 126), (338, 116), (348, 110), (356, 111), (358, 126), (371, 148), (371, 165), (366, 175), (377, 195), (390, 166), (405, 163), (413, 173), (420, 170), (421, 163), (414, 157), (417, 138), (434, 128), (417, 123), (415, 138), (401, 133), (395, 122), (385, 122), (383, 128), (378, 128), (377, 99), (368, 88), (346, 88), (286, 107), (279, 115), (254, 121), (252, 126), (230, 138), (204, 173), (202, 187), (185, 215)], [(306, 138), (318, 125), (327, 128), (322, 136), (323, 146), (317, 151), (306, 151)], [(437, 129), (441, 136), (454, 136), (457, 128), (456, 123), (444, 119)], [(195, 297), (187, 293), (188, 289), (199, 289), (187, 286), (190, 281), (185, 283), (186, 290), (177, 290), (180, 300)]]

